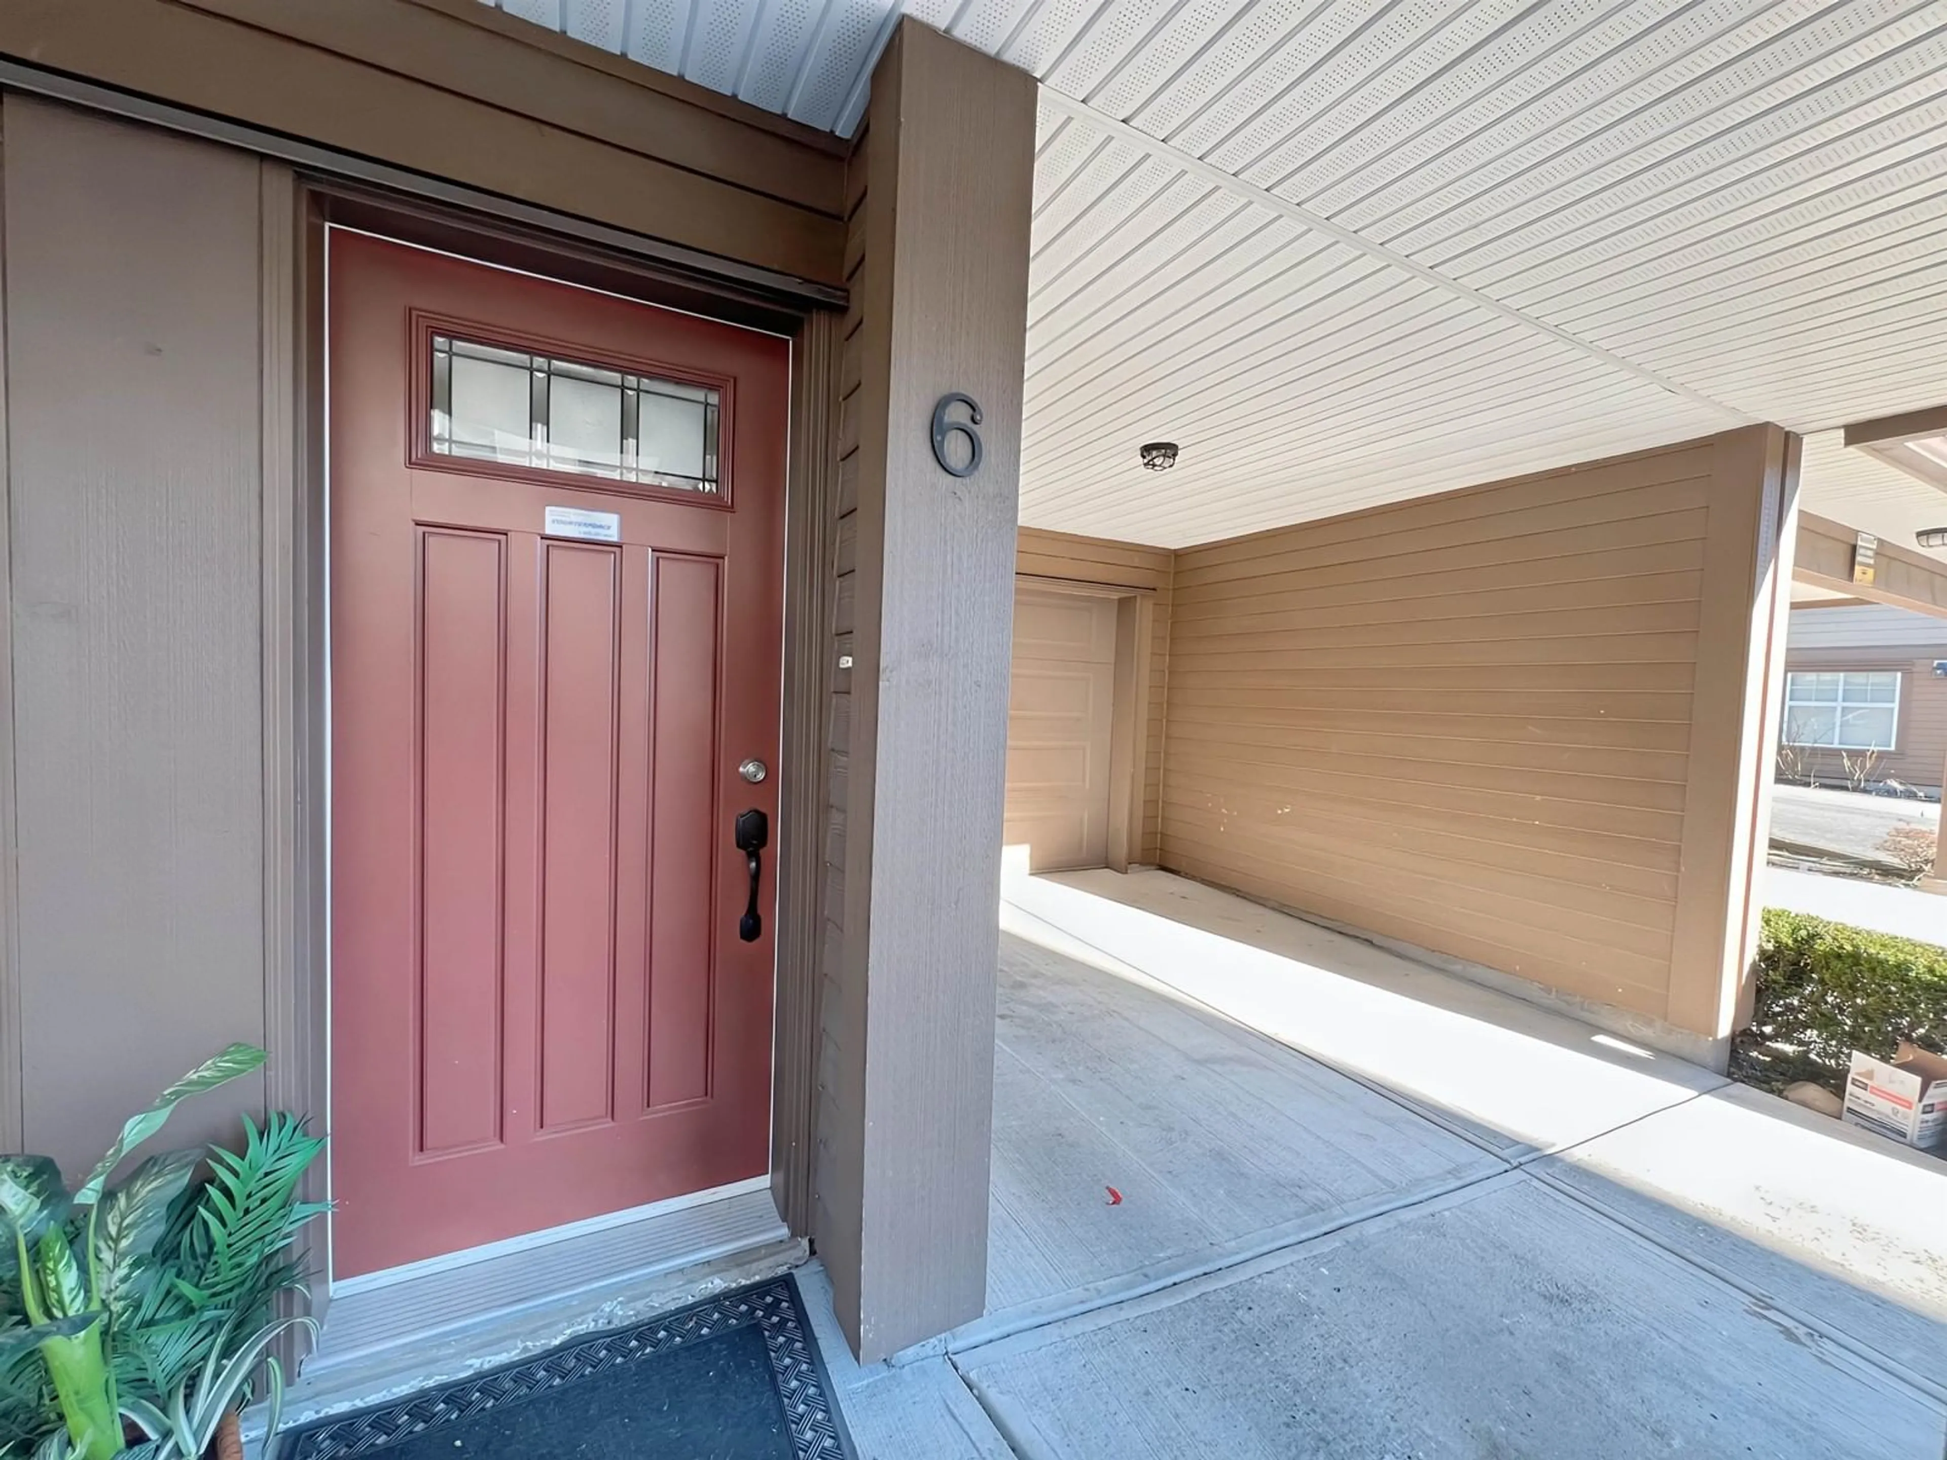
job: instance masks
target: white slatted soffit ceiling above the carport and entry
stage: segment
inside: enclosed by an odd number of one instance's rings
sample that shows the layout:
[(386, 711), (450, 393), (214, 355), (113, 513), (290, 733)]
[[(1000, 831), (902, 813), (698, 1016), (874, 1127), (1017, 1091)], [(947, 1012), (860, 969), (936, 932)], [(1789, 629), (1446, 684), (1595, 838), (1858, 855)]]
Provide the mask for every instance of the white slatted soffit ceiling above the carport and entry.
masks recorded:
[[(1947, 0), (500, 6), (839, 132), (898, 14), (1034, 72), (1034, 526), (1174, 547), (1947, 403)], [(1836, 438), (1805, 475), (1947, 522)]]

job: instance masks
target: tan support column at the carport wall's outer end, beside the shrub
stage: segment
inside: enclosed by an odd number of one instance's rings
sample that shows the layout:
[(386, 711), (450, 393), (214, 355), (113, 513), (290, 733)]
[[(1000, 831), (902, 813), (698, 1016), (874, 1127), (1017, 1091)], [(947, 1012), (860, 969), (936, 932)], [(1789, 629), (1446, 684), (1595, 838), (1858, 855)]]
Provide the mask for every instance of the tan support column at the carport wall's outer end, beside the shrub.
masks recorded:
[(1719, 1069), (1750, 1012), (1764, 911), (1797, 485), (1797, 436), (1715, 440), (1667, 1020), (1704, 1036)]

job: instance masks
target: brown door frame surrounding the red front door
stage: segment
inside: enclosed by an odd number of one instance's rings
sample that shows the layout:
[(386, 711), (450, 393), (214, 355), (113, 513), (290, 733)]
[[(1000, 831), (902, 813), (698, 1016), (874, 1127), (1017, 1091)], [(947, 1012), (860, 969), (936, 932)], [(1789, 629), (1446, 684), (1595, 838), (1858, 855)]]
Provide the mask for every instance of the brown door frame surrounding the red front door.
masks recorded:
[[(265, 966), (267, 1102), (325, 1112), (329, 1092), (329, 561), (325, 461), (325, 232), (333, 224), (516, 269), (570, 286), (681, 310), (790, 341), (785, 475), (785, 679), (777, 827), (777, 966), (771, 1069), (771, 1193), (792, 1236), (812, 1221), (818, 1036), (818, 909), (826, 800), (824, 712), (831, 668), (829, 524), (835, 494), (837, 315), (810, 300), (668, 271), (580, 239), (308, 177), (265, 162)], [(284, 327), (288, 325), (288, 329)], [(312, 1174), (329, 1191), (329, 1170)], [(329, 1221), (329, 1219), (327, 1219)], [(308, 1228), (304, 1259), (327, 1271), (327, 1232)], [(312, 1312), (323, 1318), (329, 1283)]]

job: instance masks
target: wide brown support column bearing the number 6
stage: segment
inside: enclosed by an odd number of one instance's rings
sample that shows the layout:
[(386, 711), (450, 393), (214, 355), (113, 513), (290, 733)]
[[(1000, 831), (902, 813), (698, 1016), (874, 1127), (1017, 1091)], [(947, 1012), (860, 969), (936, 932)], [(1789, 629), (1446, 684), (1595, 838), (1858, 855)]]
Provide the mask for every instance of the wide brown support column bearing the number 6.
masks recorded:
[(847, 187), (814, 1236), (866, 1361), (985, 1306), (1034, 107), (903, 19)]

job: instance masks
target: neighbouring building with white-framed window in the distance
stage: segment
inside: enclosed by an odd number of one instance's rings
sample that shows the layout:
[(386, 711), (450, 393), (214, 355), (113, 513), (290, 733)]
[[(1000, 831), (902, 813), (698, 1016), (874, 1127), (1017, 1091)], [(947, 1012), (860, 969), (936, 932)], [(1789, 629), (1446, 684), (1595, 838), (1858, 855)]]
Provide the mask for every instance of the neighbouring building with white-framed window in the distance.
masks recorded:
[(1947, 769), (1947, 619), (1883, 603), (1793, 607), (1783, 705), (1783, 779), (1898, 781), (1937, 796)]

